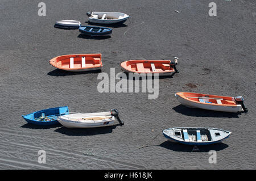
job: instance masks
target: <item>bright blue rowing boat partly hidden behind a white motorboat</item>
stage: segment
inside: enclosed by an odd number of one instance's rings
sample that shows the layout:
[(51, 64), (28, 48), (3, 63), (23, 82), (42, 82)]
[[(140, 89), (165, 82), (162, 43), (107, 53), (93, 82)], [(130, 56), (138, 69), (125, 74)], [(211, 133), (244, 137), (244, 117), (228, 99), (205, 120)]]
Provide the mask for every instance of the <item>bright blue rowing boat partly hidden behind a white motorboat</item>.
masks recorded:
[(53, 125), (59, 124), (57, 121), (57, 116), (68, 114), (68, 106), (64, 106), (32, 112), (25, 116), (22, 115), (22, 117), (27, 121), (27, 123), (36, 125)]

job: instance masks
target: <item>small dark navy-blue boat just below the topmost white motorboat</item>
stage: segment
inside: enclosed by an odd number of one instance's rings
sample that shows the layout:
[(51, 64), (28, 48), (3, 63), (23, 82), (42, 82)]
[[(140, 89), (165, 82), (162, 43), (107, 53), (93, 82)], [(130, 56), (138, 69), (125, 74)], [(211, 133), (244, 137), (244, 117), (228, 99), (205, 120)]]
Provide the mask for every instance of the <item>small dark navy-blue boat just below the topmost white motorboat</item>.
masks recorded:
[(112, 33), (111, 28), (93, 27), (93, 26), (80, 26), (79, 31), (88, 36), (105, 36)]

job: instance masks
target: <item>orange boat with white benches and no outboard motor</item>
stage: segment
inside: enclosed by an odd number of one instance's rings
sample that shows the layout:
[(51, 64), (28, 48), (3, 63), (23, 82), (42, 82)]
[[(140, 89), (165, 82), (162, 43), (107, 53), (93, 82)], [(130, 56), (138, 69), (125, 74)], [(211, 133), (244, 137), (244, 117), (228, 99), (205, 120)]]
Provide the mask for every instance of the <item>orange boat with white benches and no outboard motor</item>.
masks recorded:
[(52, 58), (49, 64), (67, 71), (90, 71), (102, 68), (101, 54), (67, 54)]

